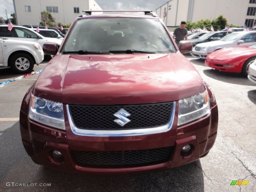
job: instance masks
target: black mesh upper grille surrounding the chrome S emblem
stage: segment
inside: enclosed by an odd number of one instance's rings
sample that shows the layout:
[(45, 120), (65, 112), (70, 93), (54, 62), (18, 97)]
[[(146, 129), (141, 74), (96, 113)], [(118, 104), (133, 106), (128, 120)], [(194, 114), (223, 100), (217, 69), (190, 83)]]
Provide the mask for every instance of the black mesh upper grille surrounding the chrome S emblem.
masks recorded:
[[(72, 121), (79, 129), (89, 130), (125, 130), (143, 129), (166, 125), (169, 122), (173, 103), (143, 105), (81, 106), (69, 105)], [(129, 123), (121, 127), (115, 123), (114, 114), (124, 109), (131, 116)]]

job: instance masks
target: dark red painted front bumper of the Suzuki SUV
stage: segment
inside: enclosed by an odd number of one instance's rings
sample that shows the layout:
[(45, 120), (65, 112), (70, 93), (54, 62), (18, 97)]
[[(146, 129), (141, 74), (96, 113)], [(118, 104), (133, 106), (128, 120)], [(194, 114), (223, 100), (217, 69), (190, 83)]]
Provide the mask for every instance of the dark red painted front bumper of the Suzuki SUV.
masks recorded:
[[(177, 111), (176, 111), (177, 113)], [(28, 115), (20, 111), (20, 131), (23, 145), (28, 155), (39, 164), (70, 173), (140, 173), (153, 170), (167, 170), (178, 167), (200, 158), (213, 146), (218, 126), (217, 105), (211, 113), (197, 121), (175, 127), (165, 133), (122, 136), (122, 137), (90, 137), (72, 133), (68, 121), (66, 131), (50, 128), (28, 119)], [(177, 124), (177, 114), (174, 124)], [(182, 154), (185, 145), (192, 146), (192, 152)], [(126, 165), (95, 165), (81, 163), (74, 151), (93, 152), (97, 154), (124, 154), (127, 151), (145, 152), (151, 149), (169, 147), (166, 158), (147, 163)], [(57, 150), (63, 157), (56, 159), (52, 152)], [(138, 156), (140, 157), (140, 155)]]

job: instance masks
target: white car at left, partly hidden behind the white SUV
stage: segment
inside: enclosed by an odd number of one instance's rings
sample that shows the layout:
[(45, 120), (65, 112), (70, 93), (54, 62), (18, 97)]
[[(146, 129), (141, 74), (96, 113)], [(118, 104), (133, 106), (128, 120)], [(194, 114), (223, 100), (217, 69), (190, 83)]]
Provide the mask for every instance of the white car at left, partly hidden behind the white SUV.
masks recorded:
[(13, 40), (23, 40), (37, 42), (43, 47), (46, 42), (54, 42), (59, 47), (62, 39), (44, 37), (36, 31), (23, 26), (13, 26), (12, 31), (8, 30), (8, 25), (0, 25), (0, 37)]

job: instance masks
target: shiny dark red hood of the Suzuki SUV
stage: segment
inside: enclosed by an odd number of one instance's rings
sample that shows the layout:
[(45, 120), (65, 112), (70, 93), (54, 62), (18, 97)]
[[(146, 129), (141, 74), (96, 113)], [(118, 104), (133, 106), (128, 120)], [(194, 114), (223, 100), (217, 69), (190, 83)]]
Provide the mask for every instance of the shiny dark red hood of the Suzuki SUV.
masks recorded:
[(204, 90), (181, 54), (56, 55), (38, 77), (34, 95), (64, 104), (109, 105), (176, 101)]

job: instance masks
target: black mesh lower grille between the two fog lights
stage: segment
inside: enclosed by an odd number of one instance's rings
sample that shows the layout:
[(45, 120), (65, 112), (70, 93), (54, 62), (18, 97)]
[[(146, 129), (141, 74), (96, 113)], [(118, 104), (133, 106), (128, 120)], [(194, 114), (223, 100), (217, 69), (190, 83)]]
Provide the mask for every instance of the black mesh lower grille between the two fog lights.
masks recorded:
[(72, 151), (76, 161), (87, 165), (134, 165), (167, 161), (171, 147), (137, 151)]

